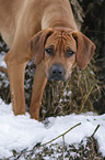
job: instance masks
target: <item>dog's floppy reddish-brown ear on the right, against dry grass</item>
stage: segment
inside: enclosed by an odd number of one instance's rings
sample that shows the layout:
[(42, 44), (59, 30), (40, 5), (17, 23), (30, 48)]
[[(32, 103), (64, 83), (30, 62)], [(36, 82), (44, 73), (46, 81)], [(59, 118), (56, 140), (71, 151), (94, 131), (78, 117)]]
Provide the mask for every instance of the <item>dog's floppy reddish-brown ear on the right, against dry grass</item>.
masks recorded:
[(80, 31), (73, 31), (72, 36), (77, 41), (77, 62), (81, 68), (85, 68), (95, 51), (95, 44)]

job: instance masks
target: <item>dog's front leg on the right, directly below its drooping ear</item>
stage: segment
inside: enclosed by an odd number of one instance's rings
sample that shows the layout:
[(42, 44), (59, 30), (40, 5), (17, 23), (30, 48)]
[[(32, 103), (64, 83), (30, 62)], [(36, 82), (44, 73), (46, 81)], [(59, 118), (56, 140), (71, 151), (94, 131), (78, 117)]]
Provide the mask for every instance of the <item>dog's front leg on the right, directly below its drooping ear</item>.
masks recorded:
[(45, 77), (45, 66), (43, 63), (36, 66), (32, 100), (30, 107), (30, 114), (32, 118), (39, 120), (39, 108), (42, 104), (43, 93), (46, 85), (47, 78)]

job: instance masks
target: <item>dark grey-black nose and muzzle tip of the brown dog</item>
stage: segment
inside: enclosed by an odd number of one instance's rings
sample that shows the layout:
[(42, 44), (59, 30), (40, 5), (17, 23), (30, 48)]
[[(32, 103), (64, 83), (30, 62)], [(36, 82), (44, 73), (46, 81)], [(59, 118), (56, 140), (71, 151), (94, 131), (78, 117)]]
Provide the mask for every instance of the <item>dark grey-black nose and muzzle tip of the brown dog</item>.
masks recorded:
[(61, 64), (55, 64), (50, 71), (50, 79), (63, 81), (63, 66)]

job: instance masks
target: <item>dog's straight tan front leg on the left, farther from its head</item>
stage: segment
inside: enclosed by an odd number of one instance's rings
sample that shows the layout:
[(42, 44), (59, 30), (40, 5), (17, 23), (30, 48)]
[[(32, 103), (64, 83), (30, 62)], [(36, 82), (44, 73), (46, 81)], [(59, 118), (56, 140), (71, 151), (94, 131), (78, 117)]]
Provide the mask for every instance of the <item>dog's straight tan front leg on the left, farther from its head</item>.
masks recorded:
[(8, 75), (10, 81), (11, 88), (11, 99), (14, 115), (24, 115), (25, 114), (25, 99), (24, 99), (24, 64), (11, 64), (8, 65)]

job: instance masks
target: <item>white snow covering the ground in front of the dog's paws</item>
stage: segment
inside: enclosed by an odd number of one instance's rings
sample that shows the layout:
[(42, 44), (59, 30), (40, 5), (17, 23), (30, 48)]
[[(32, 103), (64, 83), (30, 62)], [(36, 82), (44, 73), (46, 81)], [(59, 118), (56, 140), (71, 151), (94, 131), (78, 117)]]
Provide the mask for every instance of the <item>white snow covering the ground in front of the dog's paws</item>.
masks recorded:
[[(100, 151), (105, 157), (105, 115), (72, 114), (65, 117), (51, 117), (48, 121), (48, 125), (38, 122), (31, 119), (27, 113), (25, 116), (14, 116), (12, 105), (5, 105), (0, 99), (0, 159), (12, 156), (12, 150), (21, 151), (25, 148), (32, 149), (37, 142), (45, 143), (78, 122), (81, 125), (66, 135), (66, 142), (79, 143), (84, 137), (91, 136), (97, 125), (101, 125), (95, 138), (98, 141)], [(54, 142), (60, 141), (62, 138)]]

